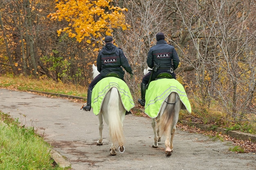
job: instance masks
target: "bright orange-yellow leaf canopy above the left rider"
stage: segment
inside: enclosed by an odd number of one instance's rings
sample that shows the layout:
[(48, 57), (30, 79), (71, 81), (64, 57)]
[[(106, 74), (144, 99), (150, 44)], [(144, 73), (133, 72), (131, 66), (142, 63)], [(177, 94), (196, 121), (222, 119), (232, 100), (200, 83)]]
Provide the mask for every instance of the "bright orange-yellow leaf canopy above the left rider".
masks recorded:
[(58, 30), (58, 35), (65, 32), (78, 42), (87, 39), (102, 39), (104, 35), (112, 35), (113, 29), (127, 29), (122, 11), (126, 8), (115, 7), (112, 0), (59, 0), (56, 12), (48, 17), (52, 20), (69, 22), (69, 27)]

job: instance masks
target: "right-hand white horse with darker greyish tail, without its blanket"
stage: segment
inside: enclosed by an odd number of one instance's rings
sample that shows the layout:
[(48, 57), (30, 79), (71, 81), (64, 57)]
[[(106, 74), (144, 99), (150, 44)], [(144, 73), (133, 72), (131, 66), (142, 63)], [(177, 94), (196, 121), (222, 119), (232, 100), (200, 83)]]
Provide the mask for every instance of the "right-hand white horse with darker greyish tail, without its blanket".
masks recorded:
[[(149, 72), (150, 68), (144, 69), (144, 75)], [(157, 81), (157, 80), (155, 80)], [(159, 84), (159, 87), (161, 84)], [(150, 91), (146, 91), (150, 93)], [(165, 153), (166, 157), (170, 157), (173, 152), (173, 137), (176, 130), (176, 124), (179, 119), (181, 109), (186, 109), (182, 104), (177, 93), (172, 92), (162, 104), (160, 112), (156, 118), (152, 118), (152, 127), (154, 132), (153, 148), (158, 147), (158, 142), (161, 141), (161, 136), (165, 135)]]

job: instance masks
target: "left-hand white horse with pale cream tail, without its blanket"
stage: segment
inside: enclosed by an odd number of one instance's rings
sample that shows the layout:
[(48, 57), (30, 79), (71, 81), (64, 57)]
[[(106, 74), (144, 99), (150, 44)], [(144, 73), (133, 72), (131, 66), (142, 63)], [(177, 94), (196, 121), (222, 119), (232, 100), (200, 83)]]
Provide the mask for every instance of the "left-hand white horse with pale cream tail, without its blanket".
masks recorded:
[[(97, 67), (92, 65), (93, 78), (99, 75)], [(108, 91), (101, 106), (99, 117), (99, 140), (97, 145), (102, 145), (103, 118), (108, 125), (109, 137), (111, 141), (110, 155), (117, 155), (115, 143), (119, 144), (119, 152), (124, 153), (124, 131), (123, 122), (126, 109), (124, 108), (117, 88), (113, 87)]]

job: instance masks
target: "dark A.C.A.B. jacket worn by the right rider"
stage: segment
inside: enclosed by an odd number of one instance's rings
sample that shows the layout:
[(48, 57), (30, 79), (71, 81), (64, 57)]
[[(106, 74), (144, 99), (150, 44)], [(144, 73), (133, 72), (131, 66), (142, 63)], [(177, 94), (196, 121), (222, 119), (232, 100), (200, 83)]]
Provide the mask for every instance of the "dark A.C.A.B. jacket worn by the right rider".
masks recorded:
[(153, 68), (154, 62), (159, 65), (160, 68), (173, 67), (175, 70), (179, 65), (180, 59), (172, 45), (167, 44), (165, 40), (159, 40), (148, 52), (148, 66)]

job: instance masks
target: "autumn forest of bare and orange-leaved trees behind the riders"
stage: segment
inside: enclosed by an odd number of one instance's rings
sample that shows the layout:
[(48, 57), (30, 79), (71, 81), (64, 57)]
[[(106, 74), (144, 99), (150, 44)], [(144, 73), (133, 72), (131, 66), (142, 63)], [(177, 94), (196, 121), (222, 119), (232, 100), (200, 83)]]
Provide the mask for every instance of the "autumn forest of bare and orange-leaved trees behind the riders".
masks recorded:
[(111, 35), (133, 69), (125, 79), (137, 103), (148, 50), (163, 32), (180, 57), (187, 117), (255, 126), (255, 22), (256, 0), (0, 0), (0, 76), (86, 89)]

